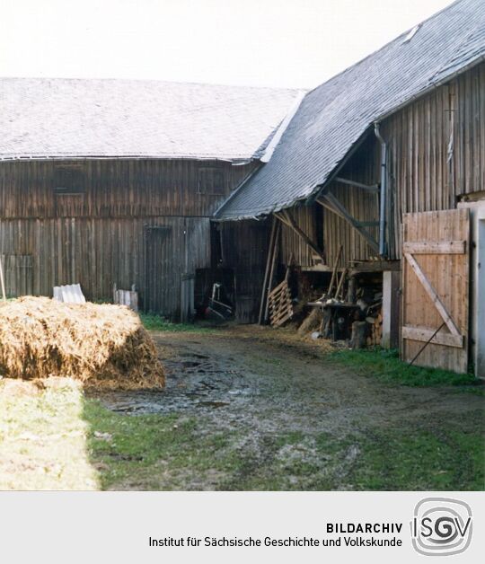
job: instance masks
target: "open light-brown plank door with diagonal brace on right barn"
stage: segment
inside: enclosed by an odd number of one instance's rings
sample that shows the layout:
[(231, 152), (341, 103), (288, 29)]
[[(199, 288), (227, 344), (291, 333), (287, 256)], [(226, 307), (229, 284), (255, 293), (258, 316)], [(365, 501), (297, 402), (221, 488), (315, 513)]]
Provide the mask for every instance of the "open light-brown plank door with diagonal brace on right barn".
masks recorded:
[(402, 359), (466, 372), (468, 209), (405, 214), (402, 220)]

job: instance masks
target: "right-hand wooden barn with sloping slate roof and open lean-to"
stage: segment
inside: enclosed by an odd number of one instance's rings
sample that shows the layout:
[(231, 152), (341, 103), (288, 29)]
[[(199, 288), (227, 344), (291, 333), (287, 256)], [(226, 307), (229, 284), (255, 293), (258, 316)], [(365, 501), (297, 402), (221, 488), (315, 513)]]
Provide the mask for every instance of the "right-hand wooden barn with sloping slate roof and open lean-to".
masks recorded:
[(380, 279), (384, 346), (485, 376), (482, 0), (451, 4), (305, 95), (269, 162), (216, 213), (236, 258), (244, 241), (229, 225), (268, 228), (271, 216), (278, 262), (300, 286), (337, 266), (338, 305), (351, 308), (356, 287)]

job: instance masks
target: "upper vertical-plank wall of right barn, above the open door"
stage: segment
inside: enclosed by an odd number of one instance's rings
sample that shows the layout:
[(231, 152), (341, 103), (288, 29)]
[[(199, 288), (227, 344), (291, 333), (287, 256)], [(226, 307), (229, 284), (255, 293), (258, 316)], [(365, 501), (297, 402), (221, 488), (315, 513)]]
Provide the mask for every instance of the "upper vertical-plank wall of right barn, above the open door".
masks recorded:
[(485, 64), (415, 101), (383, 124), (394, 208), (392, 253), (401, 256), (401, 216), (454, 209), (485, 189)]

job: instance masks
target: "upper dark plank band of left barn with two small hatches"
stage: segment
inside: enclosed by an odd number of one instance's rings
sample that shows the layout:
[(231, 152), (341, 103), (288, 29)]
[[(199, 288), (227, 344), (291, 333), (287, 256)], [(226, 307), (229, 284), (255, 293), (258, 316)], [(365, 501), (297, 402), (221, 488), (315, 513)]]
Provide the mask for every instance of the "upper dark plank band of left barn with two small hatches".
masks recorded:
[[(225, 193), (198, 193), (198, 169), (224, 172)], [(79, 171), (84, 194), (55, 196), (59, 167)], [(0, 163), (0, 217), (211, 216), (253, 169), (216, 161), (86, 160)]]

